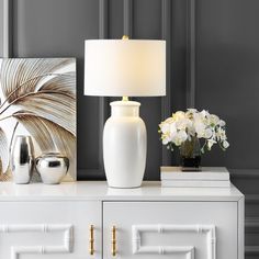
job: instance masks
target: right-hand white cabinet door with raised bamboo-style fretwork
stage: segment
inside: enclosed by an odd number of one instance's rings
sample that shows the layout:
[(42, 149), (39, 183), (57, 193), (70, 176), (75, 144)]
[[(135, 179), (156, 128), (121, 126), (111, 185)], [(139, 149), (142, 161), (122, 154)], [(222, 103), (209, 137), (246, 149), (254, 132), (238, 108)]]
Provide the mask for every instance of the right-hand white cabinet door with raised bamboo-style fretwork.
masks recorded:
[(237, 259), (237, 202), (104, 202), (103, 252), (113, 226), (123, 259)]

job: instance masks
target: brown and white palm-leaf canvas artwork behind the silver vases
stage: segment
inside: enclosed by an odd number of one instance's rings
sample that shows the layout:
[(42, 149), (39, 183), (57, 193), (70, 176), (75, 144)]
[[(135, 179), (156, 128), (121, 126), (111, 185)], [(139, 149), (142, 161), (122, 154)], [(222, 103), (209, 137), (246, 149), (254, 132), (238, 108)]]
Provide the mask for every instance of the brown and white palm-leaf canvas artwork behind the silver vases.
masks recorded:
[[(35, 157), (60, 153), (69, 158), (64, 181), (76, 170), (76, 59), (0, 59), (0, 181), (10, 181), (16, 135), (32, 136)], [(34, 181), (40, 181), (34, 172)]]

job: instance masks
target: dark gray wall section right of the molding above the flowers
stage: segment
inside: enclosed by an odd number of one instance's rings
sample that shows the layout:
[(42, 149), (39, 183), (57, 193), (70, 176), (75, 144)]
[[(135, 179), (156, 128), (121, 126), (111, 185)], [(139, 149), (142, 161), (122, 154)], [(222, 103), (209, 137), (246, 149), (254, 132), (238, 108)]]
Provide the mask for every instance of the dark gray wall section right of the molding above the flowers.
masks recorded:
[(259, 1), (196, 1), (199, 109), (227, 121), (230, 148), (214, 150), (204, 165), (224, 165), (246, 194), (246, 258), (259, 258)]

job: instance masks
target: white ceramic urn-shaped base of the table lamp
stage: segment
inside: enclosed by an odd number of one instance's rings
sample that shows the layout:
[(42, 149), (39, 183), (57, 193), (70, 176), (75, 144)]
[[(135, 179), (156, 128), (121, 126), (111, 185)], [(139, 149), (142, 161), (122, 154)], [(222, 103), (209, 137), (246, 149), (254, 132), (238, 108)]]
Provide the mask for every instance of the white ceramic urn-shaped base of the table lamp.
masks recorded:
[(103, 130), (103, 159), (109, 187), (142, 185), (147, 153), (147, 134), (139, 117), (139, 102), (111, 103), (112, 115)]

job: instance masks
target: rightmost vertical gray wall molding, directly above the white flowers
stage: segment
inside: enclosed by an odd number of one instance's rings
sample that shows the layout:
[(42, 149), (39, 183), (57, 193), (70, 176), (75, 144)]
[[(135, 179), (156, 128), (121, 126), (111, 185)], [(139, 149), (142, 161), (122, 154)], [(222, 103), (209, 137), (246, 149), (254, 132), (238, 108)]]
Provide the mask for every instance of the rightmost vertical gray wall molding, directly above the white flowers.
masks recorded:
[(195, 5), (196, 0), (188, 0), (187, 3), (187, 108), (195, 106)]

